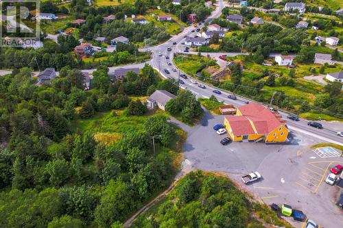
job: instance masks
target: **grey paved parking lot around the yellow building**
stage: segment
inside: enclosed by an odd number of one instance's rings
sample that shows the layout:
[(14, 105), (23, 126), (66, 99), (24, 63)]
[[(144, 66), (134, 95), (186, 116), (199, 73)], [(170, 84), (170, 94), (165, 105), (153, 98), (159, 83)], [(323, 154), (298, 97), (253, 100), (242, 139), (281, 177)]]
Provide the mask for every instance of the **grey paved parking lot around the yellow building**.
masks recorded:
[[(213, 126), (222, 123), (224, 116), (205, 113), (195, 127), (186, 127), (185, 159), (192, 168), (226, 172), (242, 188), (255, 194), (265, 203), (287, 203), (303, 210), (322, 227), (337, 227), (343, 220), (343, 211), (335, 206), (340, 189), (324, 182), (330, 168), (343, 163), (343, 157), (325, 157), (310, 149), (321, 143), (316, 138), (292, 132), (288, 144), (263, 142), (232, 142), (222, 146)], [(244, 186), (240, 177), (259, 171), (263, 179)], [(287, 219), (295, 227), (303, 223)], [(343, 226), (341, 226), (343, 227)]]

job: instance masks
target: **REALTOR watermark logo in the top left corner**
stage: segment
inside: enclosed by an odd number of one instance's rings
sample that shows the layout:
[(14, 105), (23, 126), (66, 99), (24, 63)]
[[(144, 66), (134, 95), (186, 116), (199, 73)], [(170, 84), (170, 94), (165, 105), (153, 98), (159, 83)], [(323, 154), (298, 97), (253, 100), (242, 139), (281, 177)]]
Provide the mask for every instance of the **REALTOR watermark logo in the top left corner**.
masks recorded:
[(34, 47), (40, 38), (39, 0), (0, 1), (1, 47)]

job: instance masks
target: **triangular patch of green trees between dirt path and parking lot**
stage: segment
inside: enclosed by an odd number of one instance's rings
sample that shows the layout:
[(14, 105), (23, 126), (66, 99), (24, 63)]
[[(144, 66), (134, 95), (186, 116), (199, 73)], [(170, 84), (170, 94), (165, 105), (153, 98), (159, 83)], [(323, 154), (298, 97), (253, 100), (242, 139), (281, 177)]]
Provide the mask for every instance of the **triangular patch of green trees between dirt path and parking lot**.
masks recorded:
[(260, 228), (263, 223), (291, 227), (266, 205), (252, 202), (226, 177), (199, 170), (182, 178), (161, 204), (152, 207), (132, 227)]

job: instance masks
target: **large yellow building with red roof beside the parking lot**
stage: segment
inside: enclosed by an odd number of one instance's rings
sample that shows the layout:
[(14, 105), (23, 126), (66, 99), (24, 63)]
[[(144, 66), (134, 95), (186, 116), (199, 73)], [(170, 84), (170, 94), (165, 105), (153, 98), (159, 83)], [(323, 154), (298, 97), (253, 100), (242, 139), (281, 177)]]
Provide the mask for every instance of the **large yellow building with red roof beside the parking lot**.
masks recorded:
[(281, 118), (278, 112), (271, 112), (257, 103), (249, 103), (237, 107), (235, 116), (226, 116), (224, 125), (233, 141), (286, 142), (289, 129)]

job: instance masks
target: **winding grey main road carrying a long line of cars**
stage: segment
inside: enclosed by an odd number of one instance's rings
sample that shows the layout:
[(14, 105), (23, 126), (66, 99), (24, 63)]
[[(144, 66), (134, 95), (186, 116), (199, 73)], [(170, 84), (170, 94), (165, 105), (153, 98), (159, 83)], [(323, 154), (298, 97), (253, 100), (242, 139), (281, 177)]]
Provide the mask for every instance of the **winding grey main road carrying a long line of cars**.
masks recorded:
[[(211, 16), (206, 19), (207, 22), (211, 22), (213, 18), (217, 18), (222, 13), (222, 9), (224, 8), (223, 0), (219, 1), (219, 4), (217, 5), (217, 8), (215, 11), (212, 12)], [(203, 25), (199, 26), (198, 28), (201, 28)], [(147, 63), (150, 64), (152, 67), (154, 67), (163, 77), (171, 77), (174, 79), (178, 79), (180, 74), (185, 74), (184, 72), (180, 71), (176, 65), (173, 62), (174, 53), (182, 53), (183, 50), (185, 50), (185, 45), (182, 45), (181, 43), (185, 41), (185, 36), (194, 36), (194, 32), (192, 33), (192, 30), (195, 30), (196, 27), (193, 27), (193, 25), (186, 27), (185, 30), (168, 40), (167, 42), (163, 43), (162, 45), (158, 45), (155, 47), (148, 48), (149, 51), (152, 52), (152, 59), (148, 61)], [(173, 42), (176, 42), (176, 45), (173, 45)], [(167, 48), (171, 47), (171, 51), (167, 51)], [(141, 50), (143, 51), (143, 50)], [(158, 56), (158, 53), (162, 54), (162, 56)], [(192, 53), (194, 54), (194, 53)], [(209, 53), (211, 56), (217, 58), (220, 55), (228, 55), (228, 56), (235, 56), (240, 55), (240, 53)], [(207, 53), (202, 53), (202, 55), (207, 55)], [(168, 56), (169, 59), (166, 59), (165, 56)], [(169, 66), (167, 63), (170, 62), (171, 66)], [(176, 72), (172, 71), (172, 69), (175, 68)], [(165, 69), (168, 69), (169, 74), (165, 73)], [(206, 84), (206, 88), (200, 88), (198, 87), (198, 84), (202, 84), (201, 81), (196, 79), (197, 84), (191, 83), (190, 79), (182, 79), (182, 81), (185, 81), (185, 84), (182, 84), (180, 87), (185, 88), (187, 90), (190, 90), (194, 94), (196, 94), (197, 97), (203, 97), (203, 98), (209, 98), (211, 97), (213, 93), (213, 90), (220, 90), (218, 88), (215, 88), (211, 85)], [(246, 104), (247, 101), (249, 102), (255, 102), (250, 99), (246, 99), (244, 97), (237, 96), (237, 100), (228, 99), (229, 92), (226, 92), (224, 90), (220, 90), (222, 94), (218, 95), (215, 94), (215, 97), (217, 97), (218, 101), (224, 101), (226, 104), (233, 104), (236, 107), (239, 107), (240, 105)], [(287, 119), (287, 113), (279, 111), (281, 116), (283, 118)], [(335, 144), (340, 144), (343, 146), (343, 137), (337, 136), (336, 131), (333, 129), (330, 129), (329, 127), (325, 126), (325, 123), (323, 123), (324, 129), (316, 129), (314, 127), (311, 127), (307, 125), (308, 121), (301, 119), (300, 121), (287, 121), (287, 127), (291, 131), (298, 131), (300, 133), (306, 134), (309, 137), (318, 138), (320, 140), (324, 140), (327, 142), (332, 142)], [(337, 125), (341, 125), (342, 123), (337, 123)], [(343, 126), (342, 126), (343, 131)]]

